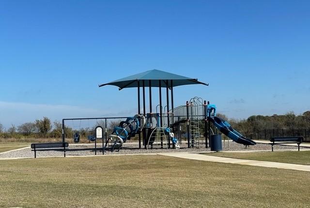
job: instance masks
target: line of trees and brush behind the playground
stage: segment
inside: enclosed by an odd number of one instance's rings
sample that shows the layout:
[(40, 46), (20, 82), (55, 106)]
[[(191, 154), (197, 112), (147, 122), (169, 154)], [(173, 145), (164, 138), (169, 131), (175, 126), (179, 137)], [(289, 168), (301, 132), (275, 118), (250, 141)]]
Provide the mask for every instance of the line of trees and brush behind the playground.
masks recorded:
[[(218, 117), (227, 120), (234, 129), (240, 133), (250, 136), (265, 129), (310, 129), (310, 111), (306, 111), (301, 115), (295, 115), (294, 112), (286, 113), (285, 115), (274, 114), (272, 116), (255, 115), (248, 119), (229, 119), (224, 114), (217, 114)], [(114, 126), (119, 124), (120, 120), (113, 120), (107, 123), (108, 132), (112, 132)], [(93, 135), (95, 126), (105, 126), (104, 121), (98, 121), (93, 127), (73, 129), (65, 127), (66, 137), (70, 138), (74, 132), (79, 131), (80, 136), (87, 137)], [(201, 123), (201, 134), (204, 134), (204, 124)], [(186, 128), (182, 125), (182, 133), (185, 133)], [(0, 137), (2, 138), (61, 138), (62, 123), (60, 121), (51, 122), (50, 119), (36, 119), (34, 122), (26, 122), (19, 126), (12, 125), (5, 129), (0, 123)]]

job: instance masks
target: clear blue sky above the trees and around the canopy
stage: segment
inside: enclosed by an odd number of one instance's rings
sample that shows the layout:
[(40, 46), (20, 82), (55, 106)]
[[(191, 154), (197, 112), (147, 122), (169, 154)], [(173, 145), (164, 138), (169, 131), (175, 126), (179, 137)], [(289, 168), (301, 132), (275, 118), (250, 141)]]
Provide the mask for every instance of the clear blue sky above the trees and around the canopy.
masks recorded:
[(152, 69), (210, 84), (175, 88), (175, 105), (198, 96), (235, 119), (300, 114), (309, 11), (307, 0), (0, 0), (0, 123), (131, 116), (136, 89), (98, 84)]

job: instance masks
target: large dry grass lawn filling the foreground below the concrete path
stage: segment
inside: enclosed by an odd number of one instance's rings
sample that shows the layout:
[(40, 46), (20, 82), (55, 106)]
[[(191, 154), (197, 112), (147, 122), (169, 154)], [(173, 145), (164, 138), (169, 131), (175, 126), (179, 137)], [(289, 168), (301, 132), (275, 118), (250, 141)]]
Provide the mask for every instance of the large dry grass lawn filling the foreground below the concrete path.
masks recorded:
[(309, 207), (309, 172), (160, 155), (0, 161), (0, 207)]

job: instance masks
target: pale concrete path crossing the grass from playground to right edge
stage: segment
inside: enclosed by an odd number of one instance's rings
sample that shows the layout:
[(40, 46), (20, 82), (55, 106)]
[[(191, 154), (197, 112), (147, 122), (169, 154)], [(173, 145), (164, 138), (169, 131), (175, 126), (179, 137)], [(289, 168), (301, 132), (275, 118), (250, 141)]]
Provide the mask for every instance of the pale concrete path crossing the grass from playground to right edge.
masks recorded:
[(181, 152), (180, 153), (158, 153), (158, 155), (184, 158), (184, 159), (190, 159), (190, 160), (209, 161), (209, 162), (216, 162), (216, 163), (246, 164), (246, 165), (253, 165), (253, 166), (283, 168), (283, 169), (302, 170), (302, 171), (310, 172), (310, 165), (302, 165), (302, 164), (276, 163), (276, 162), (256, 161), (256, 160), (242, 160), (242, 159), (234, 159), (234, 158), (209, 156), (209, 155), (203, 155), (203, 154), (198, 154), (198, 153), (181, 153)]

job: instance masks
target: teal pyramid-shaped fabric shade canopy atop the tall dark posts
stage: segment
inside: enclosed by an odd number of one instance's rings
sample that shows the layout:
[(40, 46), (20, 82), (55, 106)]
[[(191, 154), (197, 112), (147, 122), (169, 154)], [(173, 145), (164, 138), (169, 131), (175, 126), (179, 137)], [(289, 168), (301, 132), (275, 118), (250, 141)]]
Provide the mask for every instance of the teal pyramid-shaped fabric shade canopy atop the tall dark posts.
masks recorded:
[(150, 87), (149, 83), (151, 81), (151, 87), (159, 87), (159, 81), (161, 84), (161, 87), (171, 88), (171, 80), (172, 80), (172, 87), (181, 86), (181, 85), (195, 85), (195, 84), (202, 84), (208, 86), (209, 84), (203, 83), (198, 81), (198, 79), (189, 78), (186, 76), (181, 76), (178, 74), (172, 74), (168, 72), (163, 72), (160, 70), (149, 70), (146, 72), (142, 72), (139, 74), (134, 74), (131, 76), (124, 77), (122, 79), (115, 80), (113, 82), (109, 82), (106, 84), (101, 84), (99, 87), (105, 86), (105, 85), (114, 85), (119, 87), (119, 89), (124, 88), (137, 88), (138, 83), (139, 86), (142, 87), (144, 80), (144, 86)]

